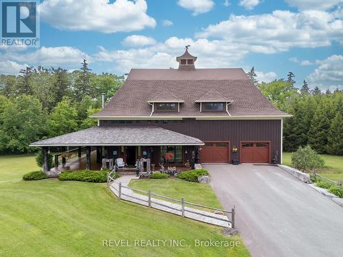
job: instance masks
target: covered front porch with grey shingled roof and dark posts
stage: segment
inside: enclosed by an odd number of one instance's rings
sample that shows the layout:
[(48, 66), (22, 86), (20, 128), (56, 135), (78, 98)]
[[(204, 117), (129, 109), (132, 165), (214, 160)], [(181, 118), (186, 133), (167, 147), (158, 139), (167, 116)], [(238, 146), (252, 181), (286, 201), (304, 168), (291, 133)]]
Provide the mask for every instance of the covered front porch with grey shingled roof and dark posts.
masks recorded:
[[(104, 162), (115, 163), (117, 159), (123, 159), (123, 169), (134, 169), (137, 160), (142, 158), (149, 159), (153, 167), (159, 167), (161, 163), (165, 167), (185, 167), (186, 162), (193, 166), (200, 162), (199, 147), (202, 145), (204, 143), (198, 138), (161, 127), (91, 127), (40, 140), (30, 146), (42, 148), (45, 172), (49, 171), (48, 154), (62, 149), (62, 163), (58, 157), (61, 154), (54, 158), (53, 171), (58, 172), (64, 169), (99, 170)], [(67, 161), (67, 147), (77, 151), (78, 156)]]

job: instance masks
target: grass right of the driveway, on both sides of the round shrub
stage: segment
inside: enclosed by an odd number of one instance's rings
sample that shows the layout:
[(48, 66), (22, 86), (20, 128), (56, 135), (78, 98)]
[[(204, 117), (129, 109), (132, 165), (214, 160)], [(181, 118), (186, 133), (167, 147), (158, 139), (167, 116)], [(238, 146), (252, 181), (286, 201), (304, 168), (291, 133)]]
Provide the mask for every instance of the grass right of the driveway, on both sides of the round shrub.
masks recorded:
[[(283, 164), (292, 166), (292, 153), (283, 153)], [(343, 180), (343, 156), (320, 154), (324, 158), (325, 166), (318, 170), (318, 174), (329, 180)]]

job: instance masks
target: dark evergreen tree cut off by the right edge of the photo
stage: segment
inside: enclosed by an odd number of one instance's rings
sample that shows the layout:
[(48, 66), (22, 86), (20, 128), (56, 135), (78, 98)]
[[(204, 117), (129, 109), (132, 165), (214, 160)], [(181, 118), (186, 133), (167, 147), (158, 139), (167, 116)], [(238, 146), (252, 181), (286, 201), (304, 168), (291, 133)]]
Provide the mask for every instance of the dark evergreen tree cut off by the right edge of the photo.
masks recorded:
[(327, 152), (338, 156), (343, 155), (343, 119), (338, 112), (332, 120), (327, 135)]

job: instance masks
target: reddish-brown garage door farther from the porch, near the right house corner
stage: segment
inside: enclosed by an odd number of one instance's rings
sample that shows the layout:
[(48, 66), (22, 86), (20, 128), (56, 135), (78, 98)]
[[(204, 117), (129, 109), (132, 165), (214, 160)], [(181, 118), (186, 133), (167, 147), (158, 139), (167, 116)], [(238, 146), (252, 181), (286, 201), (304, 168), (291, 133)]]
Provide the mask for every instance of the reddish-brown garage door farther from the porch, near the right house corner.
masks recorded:
[(269, 163), (269, 143), (241, 143), (241, 162)]

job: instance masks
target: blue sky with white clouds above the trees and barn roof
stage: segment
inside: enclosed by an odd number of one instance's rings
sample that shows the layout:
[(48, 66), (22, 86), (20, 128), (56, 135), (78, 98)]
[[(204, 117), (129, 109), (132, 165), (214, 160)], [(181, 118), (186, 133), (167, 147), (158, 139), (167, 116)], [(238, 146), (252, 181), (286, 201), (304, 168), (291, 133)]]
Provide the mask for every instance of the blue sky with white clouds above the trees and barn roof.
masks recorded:
[(24, 66), (96, 73), (176, 67), (185, 45), (196, 67), (255, 66), (259, 81), (292, 71), (296, 86), (343, 89), (343, 0), (45, 0), (40, 48), (0, 48), (0, 73)]

